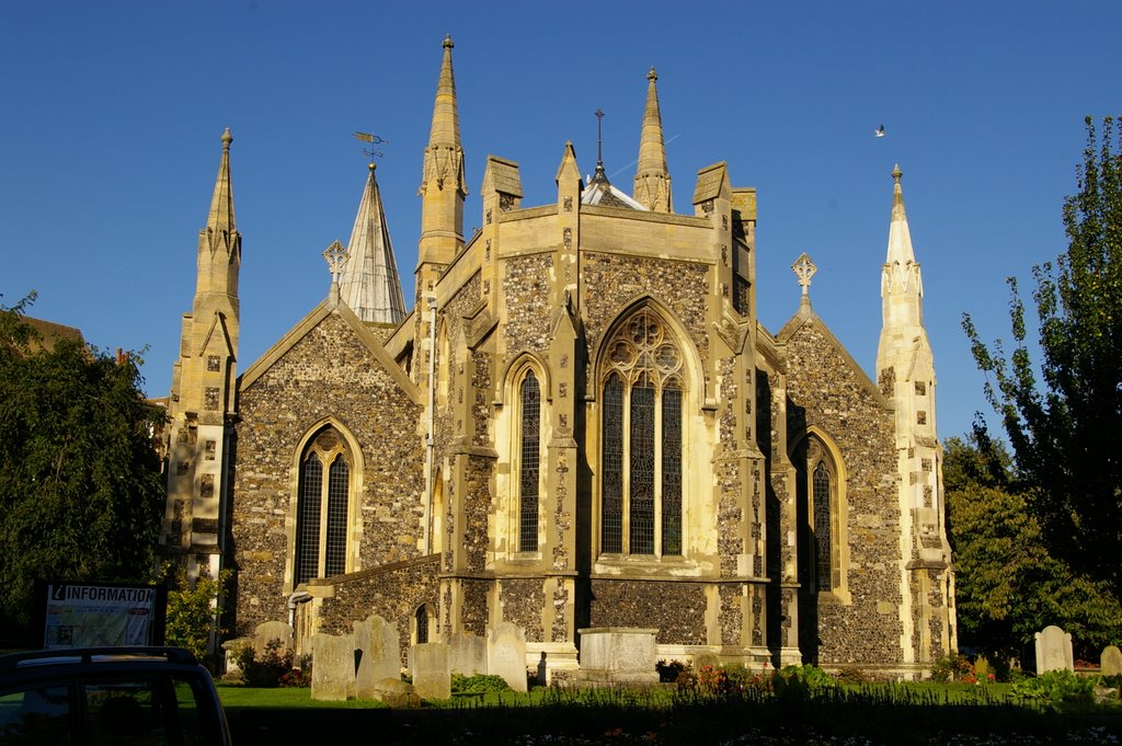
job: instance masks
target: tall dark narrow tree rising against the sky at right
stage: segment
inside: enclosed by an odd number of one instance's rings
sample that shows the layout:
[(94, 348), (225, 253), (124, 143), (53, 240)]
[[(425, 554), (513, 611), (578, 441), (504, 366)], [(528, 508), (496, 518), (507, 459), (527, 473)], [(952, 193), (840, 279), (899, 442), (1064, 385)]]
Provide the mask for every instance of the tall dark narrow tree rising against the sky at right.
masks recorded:
[(1067, 251), (1033, 268), (1039, 368), (1014, 278), (1008, 357), (969, 314), (963, 328), (1049, 554), (1122, 597), (1122, 142), (1112, 118), (1101, 141), (1091, 118), (1086, 128), (1079, 191), (1064, 201)]

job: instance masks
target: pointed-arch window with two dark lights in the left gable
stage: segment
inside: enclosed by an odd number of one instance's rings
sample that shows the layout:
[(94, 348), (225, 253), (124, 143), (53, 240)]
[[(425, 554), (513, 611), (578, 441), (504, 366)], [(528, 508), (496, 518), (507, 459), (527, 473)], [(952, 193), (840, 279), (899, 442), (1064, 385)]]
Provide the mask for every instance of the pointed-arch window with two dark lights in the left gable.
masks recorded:
[(328, 427), (312, 439), (300, 461), (294, 586), (347, 572), (350, 481), (346, 442)]

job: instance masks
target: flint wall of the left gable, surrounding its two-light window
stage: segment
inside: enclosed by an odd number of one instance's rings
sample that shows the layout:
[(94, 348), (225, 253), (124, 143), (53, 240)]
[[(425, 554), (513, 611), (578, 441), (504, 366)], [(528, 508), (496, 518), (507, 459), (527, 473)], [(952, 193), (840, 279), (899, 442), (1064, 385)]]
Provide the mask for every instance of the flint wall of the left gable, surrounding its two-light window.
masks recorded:
[(424, 489), (420, 407), (339, 316), (323, 319), (245, 388), (239, 413), (230, 515), (239, 634), (287, 617), (293, 466), (301, 439), (324, 417), (341, 422), (362, 449), (360, 565), (417, 556)]

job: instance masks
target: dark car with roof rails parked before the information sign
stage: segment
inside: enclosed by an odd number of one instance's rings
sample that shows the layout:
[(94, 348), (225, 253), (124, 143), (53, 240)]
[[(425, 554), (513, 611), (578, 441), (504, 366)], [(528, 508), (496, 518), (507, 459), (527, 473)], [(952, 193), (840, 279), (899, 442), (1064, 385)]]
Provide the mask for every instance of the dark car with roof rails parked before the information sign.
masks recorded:
[(0, 656), (0, 746), (229, 746), (210, 672), (177, 647)]

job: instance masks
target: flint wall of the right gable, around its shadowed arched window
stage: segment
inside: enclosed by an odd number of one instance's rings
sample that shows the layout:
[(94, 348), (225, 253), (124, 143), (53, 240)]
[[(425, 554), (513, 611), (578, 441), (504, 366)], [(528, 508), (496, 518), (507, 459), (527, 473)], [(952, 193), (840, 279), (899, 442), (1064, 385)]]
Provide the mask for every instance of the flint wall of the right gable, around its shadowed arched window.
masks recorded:
[(847, 473), (850, 604), (820, 597), (819, 661), (826, 664), (901, 660), (900, 506), (892, 412), (864, 374), (816, 323), (788, 340), (789, 436), (817, 426), (837, 443)]

